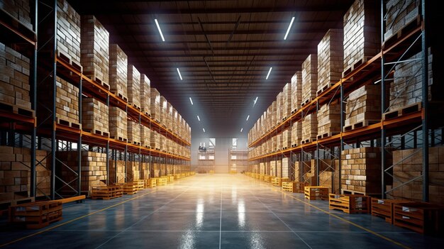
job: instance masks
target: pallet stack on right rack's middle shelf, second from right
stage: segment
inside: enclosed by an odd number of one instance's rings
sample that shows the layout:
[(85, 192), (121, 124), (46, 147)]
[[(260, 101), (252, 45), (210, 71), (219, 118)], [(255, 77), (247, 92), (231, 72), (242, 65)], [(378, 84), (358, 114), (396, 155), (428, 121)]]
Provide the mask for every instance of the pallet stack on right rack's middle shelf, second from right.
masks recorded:
[(344, 131), (381, 121), (381, 87), (366, 85), (348, 95)]

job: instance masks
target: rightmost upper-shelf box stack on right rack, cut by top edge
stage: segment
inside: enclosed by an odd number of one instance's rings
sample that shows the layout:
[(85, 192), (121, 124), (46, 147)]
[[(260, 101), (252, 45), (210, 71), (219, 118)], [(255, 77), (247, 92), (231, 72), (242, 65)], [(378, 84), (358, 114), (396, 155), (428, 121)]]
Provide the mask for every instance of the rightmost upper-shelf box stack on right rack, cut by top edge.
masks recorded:
[(395, 35), (421, 13), (419, 0), (391, 0), (385, 4), (386, 22), (384, 40)]

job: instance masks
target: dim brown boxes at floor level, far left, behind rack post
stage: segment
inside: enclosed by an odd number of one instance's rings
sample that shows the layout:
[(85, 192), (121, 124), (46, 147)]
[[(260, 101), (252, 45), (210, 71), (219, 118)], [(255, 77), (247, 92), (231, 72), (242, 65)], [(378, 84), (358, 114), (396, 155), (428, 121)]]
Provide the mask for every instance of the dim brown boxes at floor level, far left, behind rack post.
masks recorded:
[[(29, 197), (30, 189), (30, 149), (0, 146), (0, 203), (14, 199)], [(36, 181), (38, 184), (37, 197), (50, 194), (50, 165), (48, 153), (45, 150), (36, 150)]]

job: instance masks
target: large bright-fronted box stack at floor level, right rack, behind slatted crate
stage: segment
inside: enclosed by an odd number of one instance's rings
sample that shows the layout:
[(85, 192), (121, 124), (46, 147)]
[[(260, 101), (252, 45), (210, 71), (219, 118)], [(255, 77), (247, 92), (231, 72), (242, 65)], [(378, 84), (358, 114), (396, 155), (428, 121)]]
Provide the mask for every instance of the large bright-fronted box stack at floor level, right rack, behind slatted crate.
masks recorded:
[[(381, 194), (381, 148), (343, 150), (341, 160), (340, 184), (343, 191)], [(387, 162), (391, 163), (392, 158), (387, 156)]]

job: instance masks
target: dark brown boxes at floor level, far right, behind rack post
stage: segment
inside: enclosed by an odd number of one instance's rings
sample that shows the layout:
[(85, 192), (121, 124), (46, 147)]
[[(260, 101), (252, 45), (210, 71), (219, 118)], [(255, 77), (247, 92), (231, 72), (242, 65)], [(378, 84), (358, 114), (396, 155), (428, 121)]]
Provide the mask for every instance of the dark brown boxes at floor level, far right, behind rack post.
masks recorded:
[[(389, 192), (392, 199), (423, 200), (422, 148), (393, 151), (393, 187)], [(428, 189), (429, 201), (444, 204), (444, 147), (428, 148)], [(416, 181), (411, 179), (419, 177)], [(409, 184), (401, 185), (404, 182)], [(388, 189), (387, 189), (388, 190)]]

